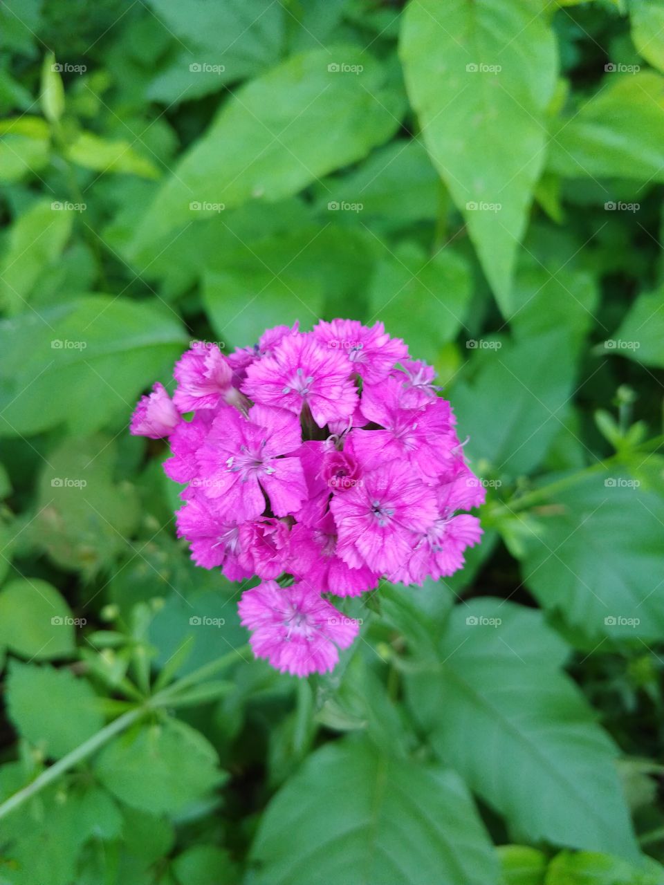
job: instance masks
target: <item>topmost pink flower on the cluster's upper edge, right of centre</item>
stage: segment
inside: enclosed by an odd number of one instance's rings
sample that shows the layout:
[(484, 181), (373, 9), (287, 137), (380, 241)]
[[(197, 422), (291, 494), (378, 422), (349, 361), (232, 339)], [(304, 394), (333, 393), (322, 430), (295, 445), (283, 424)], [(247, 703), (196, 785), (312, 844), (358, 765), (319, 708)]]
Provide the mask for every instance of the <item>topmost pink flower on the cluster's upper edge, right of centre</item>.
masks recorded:
[(408, 356), (408, 348), (400, 338), (390, 338), (382, 323), (371, 328), (357, 319), (321, 319), (313, 335), (333, 352), (342, 352), (363, 381), (374, 384), (387, 378), (395, 363)]

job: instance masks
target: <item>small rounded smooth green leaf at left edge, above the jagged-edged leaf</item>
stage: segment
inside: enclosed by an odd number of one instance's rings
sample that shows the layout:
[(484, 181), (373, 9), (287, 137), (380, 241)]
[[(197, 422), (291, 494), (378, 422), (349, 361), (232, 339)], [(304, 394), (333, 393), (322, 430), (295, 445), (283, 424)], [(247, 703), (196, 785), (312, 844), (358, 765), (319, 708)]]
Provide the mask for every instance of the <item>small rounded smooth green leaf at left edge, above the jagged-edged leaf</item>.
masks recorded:
[(22, 578), (0, 590), (0, 647), (23, 658), (64, 658), (74, 649), (69, 606), (47, 581)]

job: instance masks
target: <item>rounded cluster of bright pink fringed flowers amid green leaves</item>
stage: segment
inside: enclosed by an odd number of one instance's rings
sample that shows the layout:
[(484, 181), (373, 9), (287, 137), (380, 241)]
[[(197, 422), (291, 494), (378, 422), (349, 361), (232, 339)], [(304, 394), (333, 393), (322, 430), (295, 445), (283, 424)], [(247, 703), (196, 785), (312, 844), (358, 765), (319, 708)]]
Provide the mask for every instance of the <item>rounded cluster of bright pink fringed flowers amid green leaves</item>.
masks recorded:
[[(196, 342), (131, 422), (168, 436), (186, 483), (177, 530), (199, 566), (258, 576), (239, 604), (251, 646), (282, 672), (325, 673), (359, 630), (326, 594), (451, 575), (483, 503), (433, 369), (382, 323), (268, 329), (228, 357)], [(280, 579), (281, 582), (278, 582)]]

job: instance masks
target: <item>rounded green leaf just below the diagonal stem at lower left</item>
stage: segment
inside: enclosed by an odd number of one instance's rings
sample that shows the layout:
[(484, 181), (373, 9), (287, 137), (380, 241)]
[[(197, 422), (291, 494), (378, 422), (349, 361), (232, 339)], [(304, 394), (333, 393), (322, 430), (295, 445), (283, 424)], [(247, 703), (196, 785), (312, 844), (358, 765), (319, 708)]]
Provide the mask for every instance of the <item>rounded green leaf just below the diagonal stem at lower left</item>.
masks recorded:
[(120, 735), (95, 762), (97, 778), (122, 802), (146, 812), (174, 812), (222, 782), (217, 753), (200, 732), (166, 720)]

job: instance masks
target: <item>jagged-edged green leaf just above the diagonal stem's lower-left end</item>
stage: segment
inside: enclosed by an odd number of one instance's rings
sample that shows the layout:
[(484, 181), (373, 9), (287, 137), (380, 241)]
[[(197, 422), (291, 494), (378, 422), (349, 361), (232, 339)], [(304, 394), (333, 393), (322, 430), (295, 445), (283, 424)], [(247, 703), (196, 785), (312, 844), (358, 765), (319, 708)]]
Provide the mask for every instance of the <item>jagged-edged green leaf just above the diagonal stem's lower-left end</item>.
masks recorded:
[(104, 726), (89, 682), (69, 670), (12, 661), (7, 690), (10, 718), (19, 735), (46, 758), (66, 756)]

